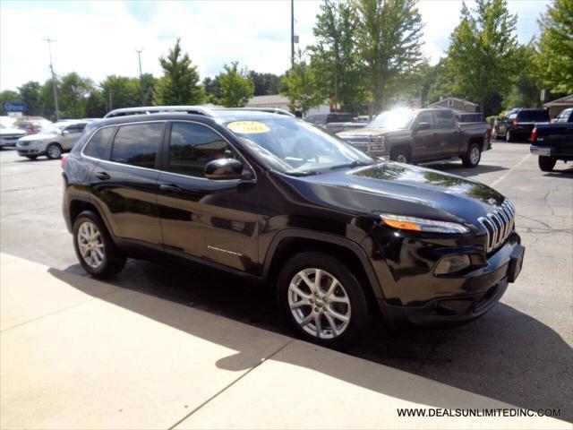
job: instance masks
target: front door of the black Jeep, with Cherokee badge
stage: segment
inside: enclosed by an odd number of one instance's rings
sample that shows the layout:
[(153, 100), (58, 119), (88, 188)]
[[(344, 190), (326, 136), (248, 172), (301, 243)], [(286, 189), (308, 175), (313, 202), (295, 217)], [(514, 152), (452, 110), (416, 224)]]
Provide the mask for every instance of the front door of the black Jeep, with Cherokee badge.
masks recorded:
[(213, 159), (244, 159), (210, 125), (174, 121), (164, 142), (158, 177), (159, 217), (167, 251), (240, 271), (258, 263), (256, 184), (210, 180)]

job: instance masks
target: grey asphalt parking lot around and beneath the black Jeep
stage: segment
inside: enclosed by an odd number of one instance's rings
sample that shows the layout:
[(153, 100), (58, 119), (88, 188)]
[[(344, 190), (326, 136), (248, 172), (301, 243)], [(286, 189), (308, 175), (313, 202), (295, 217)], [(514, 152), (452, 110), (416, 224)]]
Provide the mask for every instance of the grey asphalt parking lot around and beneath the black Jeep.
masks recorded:
[[(82, 274), (61, 214), (59, 161), (0, 151), (0, 245), (13, 254)], [(543, 173), (526, 143), (494, 142), (475, 169), (433, 165), (492, 185), (517, 208), (526, 245), (520, 278), (492, 312), (449, 330), (389, 333), (377, 324), (350, 354), (517, 407), (561, 409), (573, 420), (573, 168)], [(212, 314), (283, 331), (261, 291), (201, 267), (130, 261), (112, 283)]]

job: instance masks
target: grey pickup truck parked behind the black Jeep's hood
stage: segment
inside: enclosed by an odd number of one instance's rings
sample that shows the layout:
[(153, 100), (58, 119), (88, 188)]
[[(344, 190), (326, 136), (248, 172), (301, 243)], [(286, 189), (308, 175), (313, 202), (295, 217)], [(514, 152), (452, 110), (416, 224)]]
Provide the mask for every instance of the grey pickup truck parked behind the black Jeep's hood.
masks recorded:
[(394, 109), (382, 112), (360, 130), (338, 137), (372, 157), (389, 157), (401, 163), (426, 163), (453, 157), (475, 168), (484, 150), (492, 149), (490, 125), (458, 123), (454, 111)]

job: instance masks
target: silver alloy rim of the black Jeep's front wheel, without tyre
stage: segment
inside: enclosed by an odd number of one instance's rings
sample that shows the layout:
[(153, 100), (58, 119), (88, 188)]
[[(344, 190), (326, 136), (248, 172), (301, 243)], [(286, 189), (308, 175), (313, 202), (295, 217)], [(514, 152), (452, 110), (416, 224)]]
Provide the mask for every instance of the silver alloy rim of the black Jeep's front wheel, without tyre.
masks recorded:
[(335, 339), (350, 323), (346, 289), (328, 271), (296, 273), (288, 286), (288, 305), (299, 327), (318, 339)]

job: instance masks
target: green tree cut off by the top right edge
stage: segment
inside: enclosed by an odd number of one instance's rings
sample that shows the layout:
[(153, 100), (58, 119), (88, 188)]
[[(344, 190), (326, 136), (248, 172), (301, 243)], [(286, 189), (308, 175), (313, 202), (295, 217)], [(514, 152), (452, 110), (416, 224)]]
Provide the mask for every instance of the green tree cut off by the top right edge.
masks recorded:
[(538, 80), (546, 90), (573, 92), (573, 0), (555, 0), (538, 21)]

